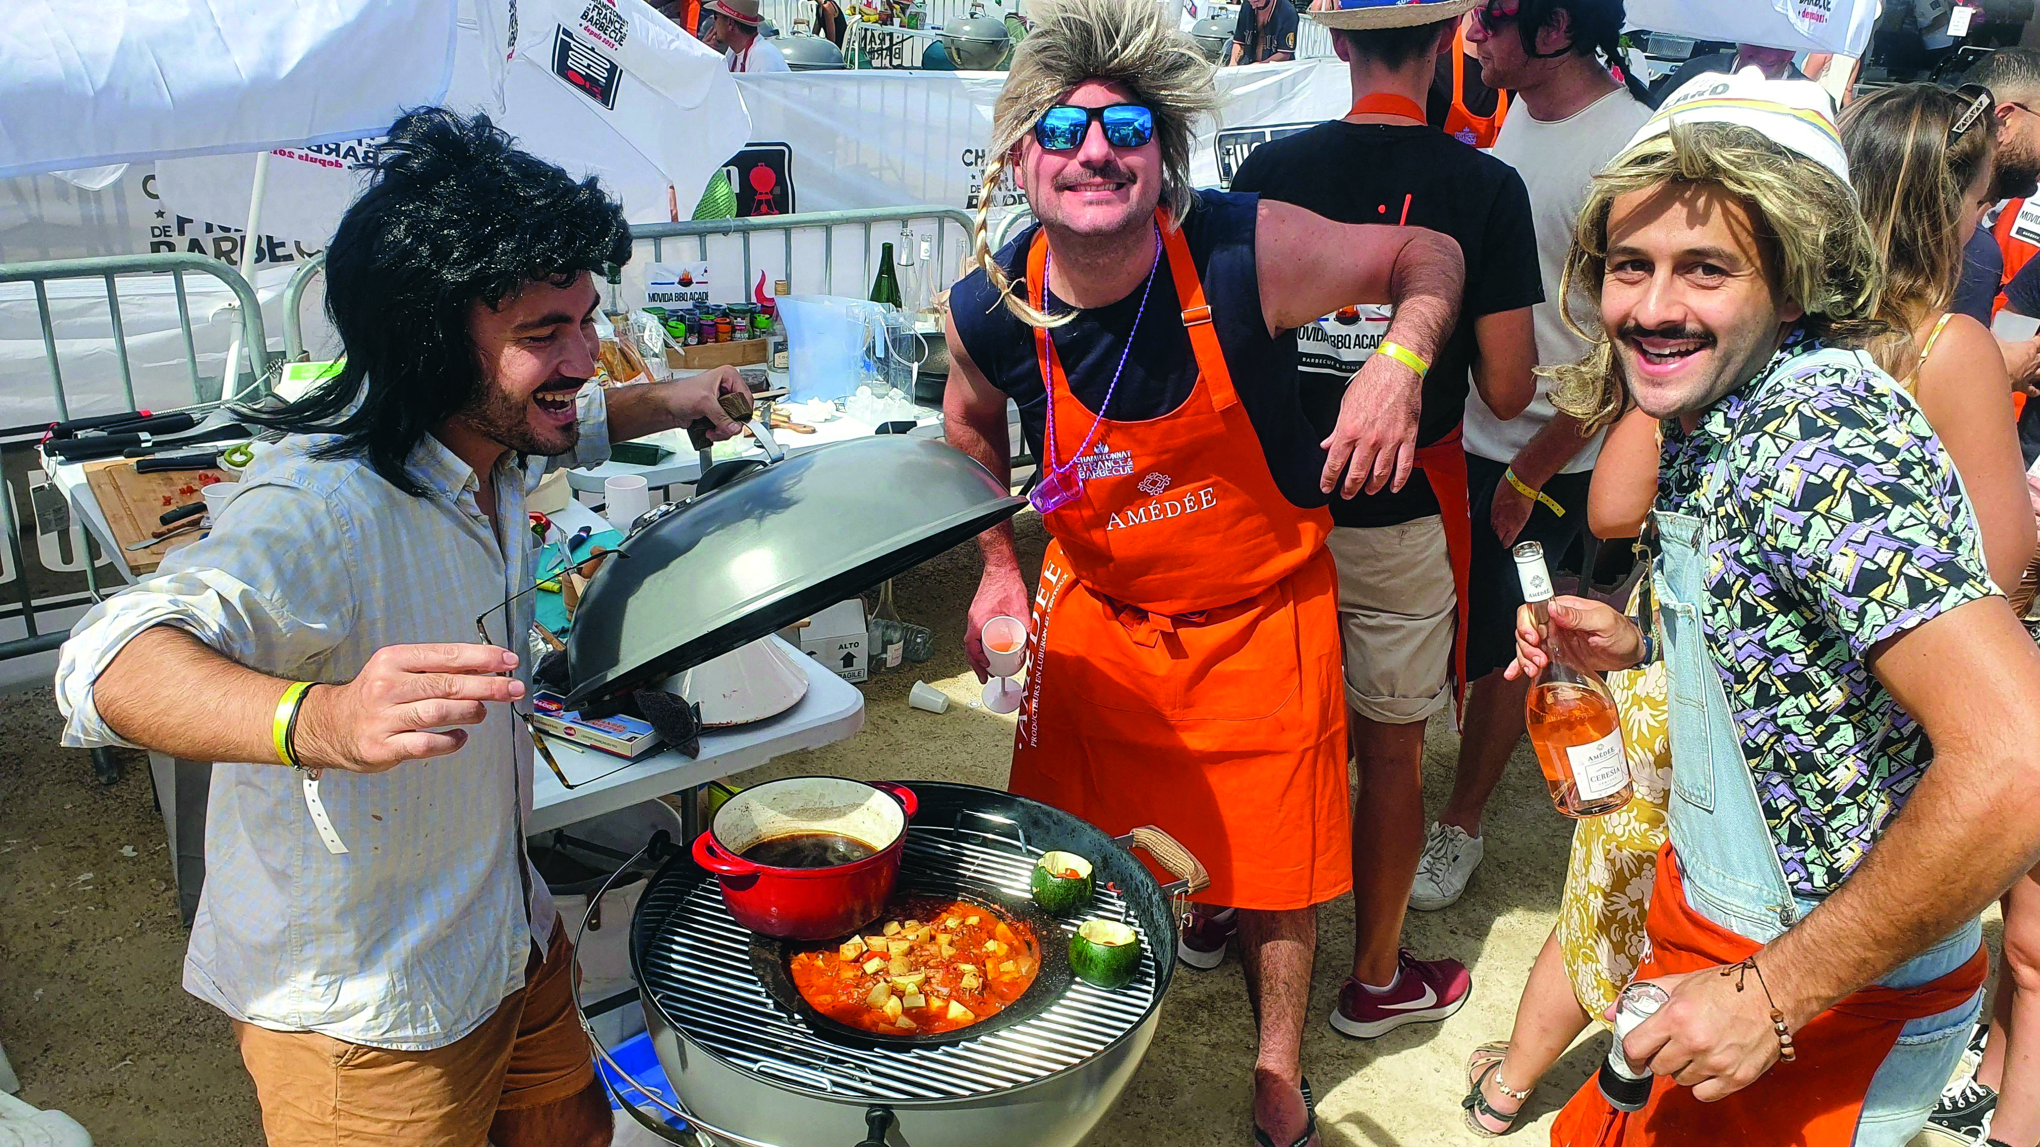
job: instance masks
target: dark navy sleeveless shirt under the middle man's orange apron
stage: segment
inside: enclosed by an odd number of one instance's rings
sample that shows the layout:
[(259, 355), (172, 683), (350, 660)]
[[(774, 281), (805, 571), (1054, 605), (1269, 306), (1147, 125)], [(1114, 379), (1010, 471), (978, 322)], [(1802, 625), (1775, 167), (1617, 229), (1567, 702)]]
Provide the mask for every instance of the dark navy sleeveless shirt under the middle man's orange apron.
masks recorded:
[[(1312, 431), (1297, 396), (1295, 335), (1269, 337), (1267, 318), (1261, 314), (1261, 276), (1255, 267), (1259, 204), (1259, 196), (1197, 192), (1197, 206), (1183, 216), (1183, 241), (1204, 278), (1204, 298), (1212, 306), (1218, 345), (1226, 355), (1232, 386), (1240, 394), (1240, 406), (1261, 439), (1275, 486), (1297, 506), (1324, 506), (1330, 498), (1318, 490), (1324, 473), (1324, 451), (1318, 449), (1322, 435)], [(1026, 255), (1036, 227), (1022, 231), (998, 253), (1000, 265), (1022, 296)], [(1053, 292), (1049, 310), (1065, 310)], [(977, 369), (1020, 406), (1020, 433), (1026, 435), (1034, 457), (1040, 457), (1044, 392), (1034, 329), (1006, 310), (983, 271), (971, 271), (957, 282), (949, 292), (949, 312)], [(1134, 327), (1136, 314), (1140, 314), (1138, 327)], [(1132, 347), (1126, 345), (1128, 331)], [(1161, 418), (1181, 406), (1197, 384), (1197, 359), (1183, 329), (1183, 304), (1175, 298), (1167, 247), (1155, 265), (1144, 314), (1140, 288), (1134, 288), (1114, 304), (1079, 310), (1049, 337), (1055, 339), (1055, 355), (1077, 402), (1093, 412), (1104, 408), (1102, 412), (1114, 420)], [(1126, 369), (1118, 390), (1112, 390), (1112, 404), (1106, 406), (1106, 392), (1122, 355)], [(1087, 431), (1089, 425), (1057, 425), (1057, 449), (1077, 449)], [(1057, 453), (1057, 461), (1069, 459)]]

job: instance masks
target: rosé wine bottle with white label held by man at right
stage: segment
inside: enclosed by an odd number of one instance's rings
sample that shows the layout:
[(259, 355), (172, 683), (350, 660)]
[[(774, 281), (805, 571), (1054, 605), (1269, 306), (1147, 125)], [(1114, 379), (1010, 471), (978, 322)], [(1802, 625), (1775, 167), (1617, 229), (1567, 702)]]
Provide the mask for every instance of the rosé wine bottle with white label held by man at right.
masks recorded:
[(1599, 674), (1573, 665), (1550, 641), (1550, 571), (1540, 543), (1516, 545), (1516, 574), (1550, 657), (1530, 682), (1530, 698), (1524, 702), (1530, 747), (1550, 786), (1550, 802), (1567, 816), (1614, 812), (1634, 794), (1616, 696)]

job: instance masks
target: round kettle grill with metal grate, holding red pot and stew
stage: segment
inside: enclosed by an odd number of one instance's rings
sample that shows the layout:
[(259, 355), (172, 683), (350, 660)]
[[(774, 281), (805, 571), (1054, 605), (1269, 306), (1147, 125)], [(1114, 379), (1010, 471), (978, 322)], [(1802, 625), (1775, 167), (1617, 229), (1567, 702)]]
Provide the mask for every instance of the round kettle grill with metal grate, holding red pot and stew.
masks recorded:
[[(771, 976), (761, 976), (761, 941), (730, 918), (714, 876), (679, 851), (639, 900), (630, 961), (653, 1047), (679, 1096), (667, 1110), (687, 1127), (669, 1129), (618, 1096), (626, 1116), (694, 1147), (1075, 1147), (1098, 1125), (1155, 1037), (1177, 927), (1187, 896), (1208, 884), (1204, 867), (1157, 829), (1114, 839), (1010, 792), (912, 788), (920, 812), (900, 894), (1018, 906), (1042, 853), (1083, 855), (1095, 867), (1091, 904), (1038, 939), (1065, 947), (1083, 918), (1122, 920), (1140, 937), (1134, 982), (1118, 990), (1059, 982), (1028, 992), (1008, 1008), (1016, 1014), (991, 1016), (1002, 1023), (940, 1045), (847, 1039), (773, 992)], [(1134, 847), (1177, 880), (1161, 884)]]

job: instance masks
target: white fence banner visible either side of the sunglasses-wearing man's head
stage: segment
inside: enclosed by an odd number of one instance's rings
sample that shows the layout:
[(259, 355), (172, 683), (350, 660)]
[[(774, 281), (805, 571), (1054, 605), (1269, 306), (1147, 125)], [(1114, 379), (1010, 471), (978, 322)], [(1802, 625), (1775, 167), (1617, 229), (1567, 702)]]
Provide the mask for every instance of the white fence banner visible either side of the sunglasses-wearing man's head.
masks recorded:
[[(738, 76), (751, 145), (734, 167), (738, 214), (947, 204), (975, 210), (1000, 71)], [(1200, 124), (1191, 180), (1222, 188), (1255, 145), (1346, 112), (1336, 59), (1226, 67)], [(1008, 204), (1018, 194), (1008, 186)]]

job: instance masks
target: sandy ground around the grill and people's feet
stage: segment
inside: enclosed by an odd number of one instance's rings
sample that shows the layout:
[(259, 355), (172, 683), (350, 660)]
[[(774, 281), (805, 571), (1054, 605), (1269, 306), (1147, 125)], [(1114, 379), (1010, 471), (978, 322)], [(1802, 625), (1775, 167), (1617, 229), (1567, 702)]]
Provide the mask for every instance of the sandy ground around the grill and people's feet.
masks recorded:
[[(1038, 529), (1024, 522), (1030, 563), (1040, 545)], [(936, 659), (922, 676), (959, 704), (940, 716), (912, 710), (914, 678), (879, 676), (865, 690), (859, 737), (736, 780), (828, 771), (1002, 786), (1012, 720), (967, 704), (977, 682), (959, 643), (975, 576), (975, 549), (965, 547), (898, 582), (902, 614), (938, 633)], [(10, 745), (0, 755), (0, 1045), (20, 1074), (22, 1098), (67, 1110), (102, 1145), (259, 1145), (253, 1088), (226, 1020), (177, 986), (186, 933), (147, 769), (131, 755), (126, 778), (100, 788), (82, 751), (57, 747), (57, 727), (47, 690), (0, 706), (0, 743)], [(1434, 808), (1450, 788), (1455, 755), (1457, 737), (1442, 720), (1432, 725), (1424, 780)], [(1481, 1143), (1461, 1123), (1465, 1057), (1477, 1043), (1508, 1037), (1524, 976), (1552, 925), (1569, 839), (1571, 822), (1552, 812), (1528, 749), (1518, 751), (1489, 812), (1487, 861), (1467, 896), (1444, 912), (1412, 912), (1404, 933), (1420, 955), (1459, 957), (1473, 969), (1473, 998), (1442, 1025), (1369, 1043), (1334, 1033), (1324, 1014), (1350, 961), (1353, 906), (1324, 910), (1304, 1069), (1328, 1145)], [(1532, 1096), (1512, 1141), (1546, 1143), (1552, 1112), (1603, 1049), (1597, 1035), (1577, 1045)], [(1153, 1049), (1087, 1143), (1244, 1147), (1253, 1141), (1251, 1065), (1238, 959), (1210, 974), (1179, 969)]]

